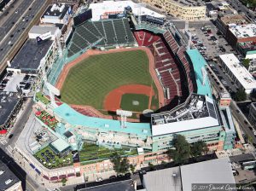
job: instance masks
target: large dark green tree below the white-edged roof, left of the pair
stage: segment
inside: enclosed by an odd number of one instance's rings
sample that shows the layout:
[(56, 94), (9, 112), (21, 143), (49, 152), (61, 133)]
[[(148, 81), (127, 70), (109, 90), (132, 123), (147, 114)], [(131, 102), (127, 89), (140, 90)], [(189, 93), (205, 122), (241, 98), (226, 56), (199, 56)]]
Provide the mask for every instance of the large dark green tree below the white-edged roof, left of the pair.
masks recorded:
[(190, 144), (187, 142), (185, 136), (177, 135), (173, 139), (173, 146), (175, 149), (167, 151), (168, 157), (173, 159), (176, 164), (183, 165), (190, 157)]

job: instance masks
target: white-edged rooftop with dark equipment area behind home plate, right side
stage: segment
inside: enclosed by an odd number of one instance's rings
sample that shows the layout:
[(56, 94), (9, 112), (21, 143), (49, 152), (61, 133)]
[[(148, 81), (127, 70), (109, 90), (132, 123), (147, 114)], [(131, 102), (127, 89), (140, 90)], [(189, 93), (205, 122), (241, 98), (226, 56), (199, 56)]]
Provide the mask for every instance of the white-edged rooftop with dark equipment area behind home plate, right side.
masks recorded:
[(192, 94), (179, 107), (151, 116), (152, 135), (218, 126), (220, 122), (217, 109), (210, 97)]

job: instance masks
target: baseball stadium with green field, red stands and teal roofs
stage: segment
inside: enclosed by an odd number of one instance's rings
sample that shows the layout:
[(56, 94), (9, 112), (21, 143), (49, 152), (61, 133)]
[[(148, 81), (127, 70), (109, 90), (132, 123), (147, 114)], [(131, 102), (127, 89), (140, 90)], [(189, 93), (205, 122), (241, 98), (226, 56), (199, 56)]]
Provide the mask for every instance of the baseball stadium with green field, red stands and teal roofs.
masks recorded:
[(230, 111), (213, 100), (207, 62), (188, 48), (189, 38), (160, 15), (120, 7), (113, 3), (104, 19), (96, 20), (94, 9), (73, 18), (66, 49), (47, 75), (51, 85), (35, 96), (36, 119), (67, 142), (54, 149), (92, 142), (157, 152), (172, 148), (176, 134), (212, 150), (232, 148)]

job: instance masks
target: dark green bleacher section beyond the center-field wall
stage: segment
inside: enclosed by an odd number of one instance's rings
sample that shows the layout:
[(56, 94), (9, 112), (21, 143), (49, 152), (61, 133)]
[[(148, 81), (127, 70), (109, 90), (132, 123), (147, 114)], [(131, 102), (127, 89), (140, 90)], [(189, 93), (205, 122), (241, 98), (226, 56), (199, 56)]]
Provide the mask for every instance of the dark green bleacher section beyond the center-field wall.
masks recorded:
[(67, 56), (79, 53), (82, 49), (93, 46), (125, 46), (134, 44), (129, 21), (126, 18), (117, 20), (87, 21), (75, 28), (68, 48)]

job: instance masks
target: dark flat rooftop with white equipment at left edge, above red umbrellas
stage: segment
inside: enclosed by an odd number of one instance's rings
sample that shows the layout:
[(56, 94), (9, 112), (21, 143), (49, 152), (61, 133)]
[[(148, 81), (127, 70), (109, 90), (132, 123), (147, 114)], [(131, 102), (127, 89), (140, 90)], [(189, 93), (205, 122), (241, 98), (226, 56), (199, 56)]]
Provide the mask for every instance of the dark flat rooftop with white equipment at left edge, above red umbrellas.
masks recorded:
[(5, 124), (19, 100), (17, 93), (0, 91), (0, 126)]

